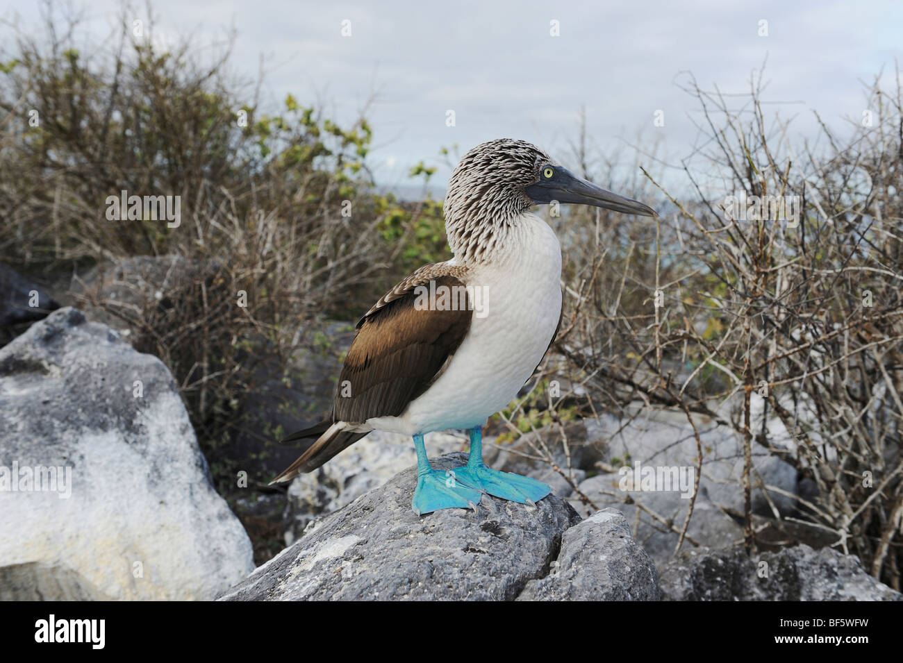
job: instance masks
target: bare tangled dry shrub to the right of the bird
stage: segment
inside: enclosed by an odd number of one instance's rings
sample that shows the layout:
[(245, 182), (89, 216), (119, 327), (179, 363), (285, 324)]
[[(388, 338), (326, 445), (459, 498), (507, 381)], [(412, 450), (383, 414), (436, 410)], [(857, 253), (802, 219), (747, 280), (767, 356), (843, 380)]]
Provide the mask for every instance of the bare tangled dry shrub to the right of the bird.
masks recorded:
[[(759, 487), (750, 472), (758, 445), (815, 483), (815, 498), (799, 498), (791, 520), (829, 533), (836, 548), (899, 589), (899, 87), (888, 92), (876, 82), (866, 90), (870, 124), (851, 120), (844, 138), (821, 124), (818, 141), (799, 146), (789, 123), (766, 116), (759, 81), (738, 111), (731, 110), (737, 97), (729, 102), (691, 79), (703, 147), (681, 162), (683, 193), (663, 189), (661, 218), (577, 211), (557, 222), (568, 287), (555, 350), (568, 364), (550, 362), (544, 377), (572, 388), (548, 399), (551, 419), (575, 405), (584, 416), (607, 410), (629, 419), (664, 408), (683, 411), (691, 424), (692, 413), (711, 417), (744, 448), (748, 548), (755, 547), (749, 495)], [(603, 170), (600, 180), (620, 172)], [(651, 176), (645, 189), (613, 188), (647, 199), (650, 183)], [(776, 205), (796, 197), (799, 207), (781, 213), (767, 205), (762, 216), (743, 216), (729, 200), (741, 192)], [(522, 401), (510, 428), (530, 429), (517, 418), (546, 397)], [(698, 442), (695, 428), (694, 435)], [(547, 448), (536, 451), (553, 462)], [(673, 527), (685, 533), (690, 517), (692, 505)]]

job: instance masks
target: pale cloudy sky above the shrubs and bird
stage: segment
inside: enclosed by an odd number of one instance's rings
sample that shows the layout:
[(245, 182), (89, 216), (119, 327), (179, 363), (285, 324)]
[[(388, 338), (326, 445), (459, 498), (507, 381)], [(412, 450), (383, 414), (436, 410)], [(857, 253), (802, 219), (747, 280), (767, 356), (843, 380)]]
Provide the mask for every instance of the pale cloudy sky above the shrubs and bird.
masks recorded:
[[(83, 10), (92, 43), (103, 44), (119, 2), (74, 5)], [(38, 22), (40, 6), (14, 2), (0, 17), (27, 29)], [(163, 43), (191, 34), (205, 48), (234, 26), (233, 68), (251, 77), (264, 58), (264, 106), (275, 108), (291, 93), (345, 123), (366, 106), (374, 130), (369, 165), (392, 188), (413, 186), (407, 171), (423, 160), (438, 167), (433, 183), (441, 191), (451, 174), (442, 147), (457, 145), (462, 154), (501, 136), (536, 143), (573, 167), (581, 108), (591, 155), (620, 151), (632, 163), (632, 146), (657, 142), (662, 158), (653, 165), (667, 178), (697, 138), (698, 106), (681, 89), (688, 72), (706, 89), (746, 93), (765, 63), (768, 111), (795, 117), (793, 130), (805, 137), (815, 132), (814, 110), (835, 127), (845, 117), (860, 118), (863, 83), (883, 68), (884, 84), (893, 87), (895, 62), (903, 60), (898, 0), (152, 0), (151, 6), (155, 39)], [(131, 12), (147, 16), (144, 5)]]

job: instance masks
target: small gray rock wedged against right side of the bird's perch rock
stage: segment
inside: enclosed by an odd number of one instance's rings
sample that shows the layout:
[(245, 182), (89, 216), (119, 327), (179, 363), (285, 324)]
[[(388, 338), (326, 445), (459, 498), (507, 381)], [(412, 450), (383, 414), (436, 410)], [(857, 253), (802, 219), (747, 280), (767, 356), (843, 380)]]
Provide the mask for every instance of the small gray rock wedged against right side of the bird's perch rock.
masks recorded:
[(658, 601), (656, 566), (630, 536), (624, 514), (604, 509), (564, 531), (552, 572), (518, 601)]

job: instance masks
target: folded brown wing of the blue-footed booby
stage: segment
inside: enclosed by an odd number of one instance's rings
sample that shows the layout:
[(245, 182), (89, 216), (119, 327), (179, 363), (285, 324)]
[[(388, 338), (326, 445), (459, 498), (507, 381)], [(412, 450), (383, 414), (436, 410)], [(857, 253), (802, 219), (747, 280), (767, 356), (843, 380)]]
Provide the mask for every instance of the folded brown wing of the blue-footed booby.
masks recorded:
[(459, 276), (448, 265), (427, 265), (358, 321), (333, 420), (396, 417), (436, 380), (470, 329), (473, 311)]

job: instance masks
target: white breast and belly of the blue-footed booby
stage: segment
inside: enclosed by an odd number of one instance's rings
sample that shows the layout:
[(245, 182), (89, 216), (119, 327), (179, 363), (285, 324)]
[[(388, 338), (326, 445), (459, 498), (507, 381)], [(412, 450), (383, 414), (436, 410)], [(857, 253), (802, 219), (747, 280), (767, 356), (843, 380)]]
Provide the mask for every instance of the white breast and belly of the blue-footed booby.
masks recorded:
[(483, 310), (445, 373), (400, 417), (369, 419), (373, 428), (413, 435), (473, 428), (517, 396), (542, 360), (562, 307), (561, 247), (552, 228), (526, 214), (491, 262), (472, 268)]

